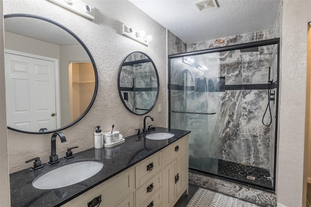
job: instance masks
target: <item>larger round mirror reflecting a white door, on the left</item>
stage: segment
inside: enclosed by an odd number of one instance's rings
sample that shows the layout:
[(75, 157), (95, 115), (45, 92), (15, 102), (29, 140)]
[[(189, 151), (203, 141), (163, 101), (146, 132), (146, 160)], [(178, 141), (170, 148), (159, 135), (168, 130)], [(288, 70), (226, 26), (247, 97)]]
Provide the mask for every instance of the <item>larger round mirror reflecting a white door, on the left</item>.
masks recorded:
[(98, 76), (78, 36), (45, 17), (12, 14), (4, 16), (4, 41), (9, 129), (51, 133), (86, 115)]

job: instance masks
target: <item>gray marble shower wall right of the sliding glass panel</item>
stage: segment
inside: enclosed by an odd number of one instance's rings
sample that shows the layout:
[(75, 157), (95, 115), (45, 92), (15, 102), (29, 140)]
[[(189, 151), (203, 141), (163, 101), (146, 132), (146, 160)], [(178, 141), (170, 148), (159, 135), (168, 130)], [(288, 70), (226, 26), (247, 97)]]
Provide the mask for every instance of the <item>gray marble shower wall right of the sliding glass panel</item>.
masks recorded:
[[(226, 86), (266, 84), (272, 53), (271, 46), (259, 47), (259, 52), (221, 52), (220, 76), (225, 77)], [(223, 126), (217, 132), (220, 149), (215, 158), (270, 169), (270, 126), (261, 123), (267, 95), (267, 90), (221, 92), (220, 124)]]

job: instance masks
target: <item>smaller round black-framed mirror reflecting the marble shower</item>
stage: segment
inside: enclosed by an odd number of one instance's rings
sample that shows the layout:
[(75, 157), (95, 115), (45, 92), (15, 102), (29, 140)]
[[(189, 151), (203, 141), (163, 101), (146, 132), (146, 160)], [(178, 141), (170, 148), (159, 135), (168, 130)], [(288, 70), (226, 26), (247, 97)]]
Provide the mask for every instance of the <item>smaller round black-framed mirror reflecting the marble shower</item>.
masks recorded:
[(147, 114), (159, 94), (159, 76), (152, 59), (143, 52), (132, 52), (122, 61), (118, 74), (119, 95), (133, 114)]

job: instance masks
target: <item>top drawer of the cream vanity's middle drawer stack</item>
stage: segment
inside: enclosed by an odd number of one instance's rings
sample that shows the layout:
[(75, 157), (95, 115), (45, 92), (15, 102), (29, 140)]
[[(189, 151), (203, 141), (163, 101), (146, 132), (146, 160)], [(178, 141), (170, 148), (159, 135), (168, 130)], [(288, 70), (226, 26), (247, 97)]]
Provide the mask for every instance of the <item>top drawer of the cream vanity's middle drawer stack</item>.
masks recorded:
[(145, 160), (138, 163), (135, 167), (136, 188), (144, 184), (159, 170), (162, 169), (162, 156), (161, 152), (151, 155)]

